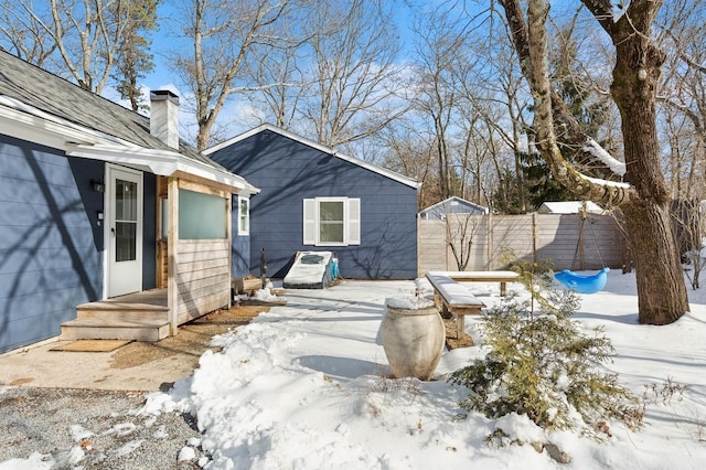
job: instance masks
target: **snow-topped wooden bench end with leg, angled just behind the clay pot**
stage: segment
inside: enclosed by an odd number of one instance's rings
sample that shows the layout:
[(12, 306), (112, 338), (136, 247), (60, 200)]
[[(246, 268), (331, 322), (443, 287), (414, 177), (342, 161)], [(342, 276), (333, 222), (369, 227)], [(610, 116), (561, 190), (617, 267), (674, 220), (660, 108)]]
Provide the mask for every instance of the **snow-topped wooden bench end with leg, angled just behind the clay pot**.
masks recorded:
[(445, 312), (456, 316), (456, 339), (463, 338), (467, 314), (480, 314), (485, 303), (448, 276), (427, 273), (434, 287), (434, 301)]

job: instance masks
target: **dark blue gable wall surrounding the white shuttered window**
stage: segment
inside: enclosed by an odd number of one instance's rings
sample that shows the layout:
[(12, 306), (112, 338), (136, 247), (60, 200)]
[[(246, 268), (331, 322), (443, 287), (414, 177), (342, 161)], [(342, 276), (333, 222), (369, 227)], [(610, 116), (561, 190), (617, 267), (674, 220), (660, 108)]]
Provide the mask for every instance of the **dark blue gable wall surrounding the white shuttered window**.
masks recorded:
[[(261, 192), (250, 200), (250, 273), (284, 277), (298, 250), (332, 250), (341, 275), (353, 279), (417, 276), (417, 191), (276, 132), (264, 130), (210, 156)], [(302, 244), (303, 200), (361, 199), (361, 245)], [(234, 266), (236, 264), (234, 254)]]

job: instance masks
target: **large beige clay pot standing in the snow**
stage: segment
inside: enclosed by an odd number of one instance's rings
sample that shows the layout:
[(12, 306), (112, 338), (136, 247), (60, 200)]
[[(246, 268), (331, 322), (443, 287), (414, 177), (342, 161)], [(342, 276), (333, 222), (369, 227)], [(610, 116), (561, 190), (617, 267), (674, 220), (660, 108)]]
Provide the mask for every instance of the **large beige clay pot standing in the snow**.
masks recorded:
[(431, 378), (446, 339), (436, 307), (408, 309), (387, 305), (381, 337), (393, 377)]

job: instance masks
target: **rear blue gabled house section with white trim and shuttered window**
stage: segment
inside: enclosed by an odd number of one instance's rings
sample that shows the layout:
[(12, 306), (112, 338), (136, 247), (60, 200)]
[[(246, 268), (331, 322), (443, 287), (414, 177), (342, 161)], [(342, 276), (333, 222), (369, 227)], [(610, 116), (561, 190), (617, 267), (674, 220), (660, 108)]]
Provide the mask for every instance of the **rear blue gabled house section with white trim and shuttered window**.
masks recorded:
[(333, 252), (343, 278), (417, 276), (419, 183), (261, 125), (204, 153), (261, 190), (250, 203), (250, 257), (242, 273), (284, 278), (298, 252)]

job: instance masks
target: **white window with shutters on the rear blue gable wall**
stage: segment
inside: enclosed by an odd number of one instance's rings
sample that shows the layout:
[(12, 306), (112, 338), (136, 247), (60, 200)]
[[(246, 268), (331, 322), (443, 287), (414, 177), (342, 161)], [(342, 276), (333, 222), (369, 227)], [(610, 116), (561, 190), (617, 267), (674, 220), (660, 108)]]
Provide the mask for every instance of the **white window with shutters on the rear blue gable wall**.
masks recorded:
[(361, 244), (361, 200), (315, 197), (303, 201), (303, 244), (347, 246)]

